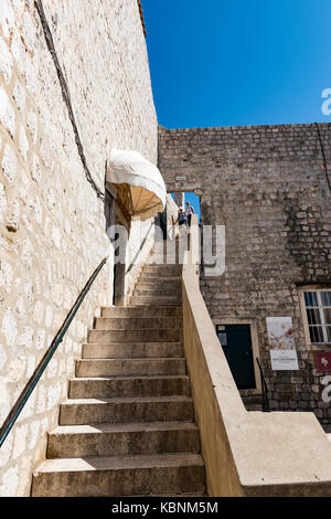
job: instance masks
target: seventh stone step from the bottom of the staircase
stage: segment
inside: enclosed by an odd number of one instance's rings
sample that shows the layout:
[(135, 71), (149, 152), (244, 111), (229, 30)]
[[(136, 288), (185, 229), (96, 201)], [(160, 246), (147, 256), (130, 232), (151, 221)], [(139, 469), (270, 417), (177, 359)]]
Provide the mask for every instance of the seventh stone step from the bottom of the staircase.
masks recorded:
[(88, 343), (113, 345), (126, 342), (180, 342), (180, 329), (146, 329), (146, 330), (90, 330)]

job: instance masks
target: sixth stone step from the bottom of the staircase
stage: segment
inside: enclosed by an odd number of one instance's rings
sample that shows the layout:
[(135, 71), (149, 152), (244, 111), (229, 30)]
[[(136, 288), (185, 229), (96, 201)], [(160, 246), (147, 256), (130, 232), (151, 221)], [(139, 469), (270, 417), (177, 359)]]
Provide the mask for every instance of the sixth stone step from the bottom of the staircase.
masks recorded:
[(126, 345), (83, 345), (83, 359), (143, 359), (184, 357), (181, 342), (132, 342)]

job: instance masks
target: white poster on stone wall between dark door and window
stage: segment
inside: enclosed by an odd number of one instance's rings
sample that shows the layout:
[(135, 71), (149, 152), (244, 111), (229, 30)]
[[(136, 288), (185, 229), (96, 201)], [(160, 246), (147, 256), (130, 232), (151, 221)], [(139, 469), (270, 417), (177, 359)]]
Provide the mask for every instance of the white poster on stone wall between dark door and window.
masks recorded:
[(291, 317), (267, 317), (271, 368), (274, 371), (299, 370)]

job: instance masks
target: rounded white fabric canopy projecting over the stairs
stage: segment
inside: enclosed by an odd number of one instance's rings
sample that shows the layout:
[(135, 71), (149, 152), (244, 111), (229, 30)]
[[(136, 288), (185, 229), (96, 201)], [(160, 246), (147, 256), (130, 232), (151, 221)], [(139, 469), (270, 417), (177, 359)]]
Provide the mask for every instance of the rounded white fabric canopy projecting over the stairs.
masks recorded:
[(159, 169), (137, 151), (113, 149), (107, 181), (110, 184), (128, 184), (132, 216), (148, 220), (163, 212), (166, 186)]

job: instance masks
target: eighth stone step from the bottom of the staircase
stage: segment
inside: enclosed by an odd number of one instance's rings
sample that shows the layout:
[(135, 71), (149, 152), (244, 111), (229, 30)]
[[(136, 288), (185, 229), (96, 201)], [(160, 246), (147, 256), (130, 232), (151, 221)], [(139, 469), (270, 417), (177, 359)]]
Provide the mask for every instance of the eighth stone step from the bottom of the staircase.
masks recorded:
[(145, 330), (145, 329), (180, 329), (183, 320), (177, 317), (98, 317), (95, 319), (96, 330)]

